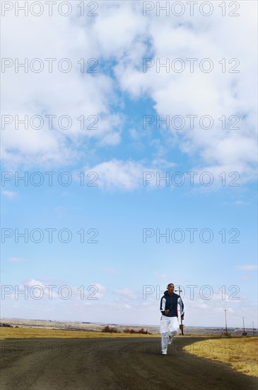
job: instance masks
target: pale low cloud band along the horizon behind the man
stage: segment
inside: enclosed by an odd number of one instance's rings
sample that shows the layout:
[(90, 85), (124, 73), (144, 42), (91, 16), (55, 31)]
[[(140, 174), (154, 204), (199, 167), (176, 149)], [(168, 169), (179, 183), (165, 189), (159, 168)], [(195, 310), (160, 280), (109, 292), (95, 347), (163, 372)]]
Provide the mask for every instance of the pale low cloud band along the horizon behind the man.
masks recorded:
[[(60, 290), (61, 286), (55, 286), (52, 289), (52, 299), (49, 299), (49, 289), (47, 285), (53, 283), (42, 282), (38, 279), (30, 279), (21, 286), (16, 286), (10, 291), (6, 286), (4, 294), (6, 299), (3, 301), (3, 313), (5, 317), (13, 317), (13, 313), (18, 313), (20, 318), (31, 318), (31, 313), (37, 313), (37, 318), (66, 320), (66, 321), (100, 321), (104, 323), (138, 323), (158, 325), (160, 320), (160, 298), (156, 294), (147, 295), (143, 299), (140, 291), (135, 289), (124, 288), (115, 289), (112, 295), (107, 295), (107, 288), (101, 284), (94, 284), (94, 289), (85, 289), (82, 299), (81, 288), (74, 286), (71, 288), (71, 298), (61, 299), (65, 296), (67, 289)], [(27, 292), (25, 289), (27, 286)], [(17, 288), (18, 287), (18, 288)], [(90, 286), (88, 286), (90, 287)], [(98, 292), (96, 295), (96, 289)], [(51, 291), (51, 289), (50, 289)], [(93, 296), (98, 297), (93, 300)], [(230, 291), (230, 294), (224, 294), (217, 288), (199, 289), (194, 288), (192, 296), (189, 290), (184, 294), (182, 299), (185, 308), (185, 325), (186, 326), (224, 326), (224, 310), (227, 310), (228, 327), (241, 326), (242, 316), (251, 318), (246, 323), (247, 327), (252, 325), (253, 313), (255, 312), (254, 304), (250, 303), (250, 298), (240, 294), (240, 291)], [(234, 294), (233, 294), (234, 293)], [(28, 299), (25, 299), (26, 294)], [(43, 294), (42, 299), (37, 299)], [(98, 295), (99, 294), (99, 295)], [(17, 299), (18, 296), (18, 299)], [(239, 299), (236, 299), (239, 298)], [(14, 308), (10, 301), (15, 301)], [(82, 308), (93, 306), (94, 310), (90, 313), (82, 312)], [(86, 319), (87, 318), (87, 319)]]

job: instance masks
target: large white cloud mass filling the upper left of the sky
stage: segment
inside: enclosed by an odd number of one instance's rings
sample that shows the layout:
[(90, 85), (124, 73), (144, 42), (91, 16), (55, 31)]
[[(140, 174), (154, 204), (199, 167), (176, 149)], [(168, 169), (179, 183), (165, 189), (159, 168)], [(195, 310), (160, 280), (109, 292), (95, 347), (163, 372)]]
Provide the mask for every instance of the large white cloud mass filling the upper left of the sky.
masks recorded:
[[(3, 161), (9, 166), (59, 166), (77, 162), (83, 153), (78, 146), (90, 138), (100, 140), (98, 145), (117, 145), (120, 142), (117, 129), (121, 123), (119, 114), (110, 112), (115, 97), (113, 81), (100, 71), (100, 65), (98, 73), (87, 72), (88, 67), (100, 58), (90, 23), (81, 24), (76, 18), (57, 14), (52, 18), (35, 18), (30, 15), (15, 17), (10, 13), (6, 13), (3, 23), (6, 32), (2, 43), (3, 57), (11, 58), (13, 62), (16, 58), (20, 63), (28, 58), (29, 62), (28, 73), (21, 68), (14, 72), (13, 66), (5, 69), (2, 77), (2, 113), (13, 118), (11, 125), (3, 129)], [(13, 28), (14, 23), (16, 28)], [(45, 31), (44, 38), (42, 31)], [(30, 71), (31, 61), (35, 58), (40, 58), (43, 63), (44, 69), (40, 73)], [(52, 73), (48, 72), (45, 58), (56, 59)], [(71, 62), (71, 72), (59, 71), (59, 60), (64, 58)], [(85, 59), (84, 73), (77, 63), (81, 58)], [(25, 115), (28, 116), (28, 129), (21, 124), (16, 129), (15, 116), (24, 119)], [(40, 129), (30, 126), (35, 115), (42, 117)], [(53, 128), (49, 128), (46, 115), (57, 116), (53, 118)], [(64, 128), (65, 121), (61, 126), (58, 122), (63, 115), (71, 118), (71, 126), (67, 129)], [(81, 116), (85, 118), (84, 124), (78, 120)], [(93, 116), (96, 123), (93, 123)], [(33, 126), (37, 123), (39, 121)]]

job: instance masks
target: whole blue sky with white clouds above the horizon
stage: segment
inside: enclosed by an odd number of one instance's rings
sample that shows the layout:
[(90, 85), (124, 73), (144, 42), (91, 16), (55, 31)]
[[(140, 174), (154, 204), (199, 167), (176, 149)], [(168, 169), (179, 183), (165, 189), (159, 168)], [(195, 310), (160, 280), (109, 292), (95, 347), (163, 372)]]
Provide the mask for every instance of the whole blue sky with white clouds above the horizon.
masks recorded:
[(256, 15), (1, 1), (2, 318), (257, 328)]

